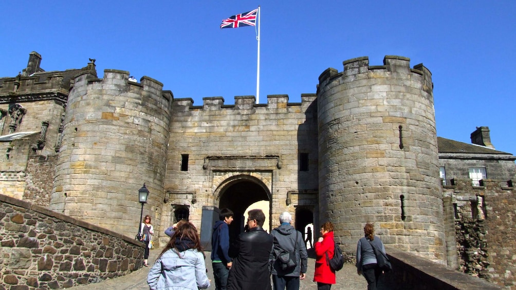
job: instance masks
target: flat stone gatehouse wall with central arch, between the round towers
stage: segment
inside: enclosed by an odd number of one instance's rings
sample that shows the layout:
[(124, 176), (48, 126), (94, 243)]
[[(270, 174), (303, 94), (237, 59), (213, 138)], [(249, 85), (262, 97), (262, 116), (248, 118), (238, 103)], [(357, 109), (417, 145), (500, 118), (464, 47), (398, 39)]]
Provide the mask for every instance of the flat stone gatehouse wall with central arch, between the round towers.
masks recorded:
[[(315, 98), (303, 94), (301, 103), (288, 103), (287, 95), (269, 95), (267, 104), (255, 104), (254, 96), (238, 96), (234, 105), (224, 105), (222, 97), (209, 97), (202, 106), (174, 99), (165, 178), (169, 202), (189, 207), (190, 221), (199, 227), (202, 207), (219, 207), (221, 189), (244, 175), (272, 192), (270, 220), (294, 213), (299, 194), (318, 187)], [(299, 168), (300, 153), (309, 153), (307, 171)], [(181, 168), (182, 155), (189, 157), (188, 170)], [(235, 197), (242, 203), (245, 198)], [(166, 206), (160, 231), (173, 222)]]

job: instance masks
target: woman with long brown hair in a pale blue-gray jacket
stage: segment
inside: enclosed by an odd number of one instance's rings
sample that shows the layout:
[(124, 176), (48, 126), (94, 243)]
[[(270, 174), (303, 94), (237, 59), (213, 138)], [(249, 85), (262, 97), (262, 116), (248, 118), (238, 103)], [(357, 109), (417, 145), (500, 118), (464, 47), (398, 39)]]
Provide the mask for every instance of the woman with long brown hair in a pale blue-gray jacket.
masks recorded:
[(206, 264), (197, 229), (184, 223), (170, 238), (149, 271), (147, 283), (152, 290), (198, 290), (209, 287)]

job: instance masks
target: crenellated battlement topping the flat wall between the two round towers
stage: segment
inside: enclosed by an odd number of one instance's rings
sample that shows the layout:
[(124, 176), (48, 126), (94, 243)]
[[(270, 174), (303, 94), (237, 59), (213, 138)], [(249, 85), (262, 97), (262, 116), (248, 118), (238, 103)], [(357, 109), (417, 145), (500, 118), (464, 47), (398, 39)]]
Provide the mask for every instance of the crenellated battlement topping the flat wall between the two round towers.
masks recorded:
[(234, 104), (225, 105), (223, 97), (204, 97), (202, 99), (202, 106), (194, 106), (192, 98), (178, 98), (174, 99), (172, 106), (174, 111), (253, 110), (255, 108), (286, 109), (287, 107), (308, 106), (316, 98), (316, 94), (301, 94), (301, 103), (288, 103), (288, 95), (267, 95), (267, 104), (256, 104), (255, 96), (235, 96)]

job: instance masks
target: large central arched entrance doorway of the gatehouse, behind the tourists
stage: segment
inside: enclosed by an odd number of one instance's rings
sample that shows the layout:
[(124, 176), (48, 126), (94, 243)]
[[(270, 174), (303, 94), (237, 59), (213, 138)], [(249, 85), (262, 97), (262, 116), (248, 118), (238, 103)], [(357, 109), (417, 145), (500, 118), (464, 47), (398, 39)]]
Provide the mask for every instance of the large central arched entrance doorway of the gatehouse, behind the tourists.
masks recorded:
[(233, 223), (229, 227), (231, 241), (244, 231), (244, 214), (251, 204), (262, 200), (269, 201), (262, 210), (265, 216), (270, 216), (270, 192), (261, 180), (253, 176), (240, 175), (229, 180), (222, 185), (219, 197), (219, 209), (229, 208), (234, 213)]

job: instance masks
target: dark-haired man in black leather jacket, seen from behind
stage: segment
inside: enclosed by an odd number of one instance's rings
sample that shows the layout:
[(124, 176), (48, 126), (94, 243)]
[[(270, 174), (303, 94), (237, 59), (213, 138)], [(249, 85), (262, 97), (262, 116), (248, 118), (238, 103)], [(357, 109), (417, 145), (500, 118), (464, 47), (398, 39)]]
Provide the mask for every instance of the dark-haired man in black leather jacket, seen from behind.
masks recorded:
[(250, 210), (248, 215), (249, 230), (238, 235), (229, 250), (234, 260), (229, 272), (228, 290), (270, 290), (272, 236), (262, 229), (265, 221), (262, 210)]

